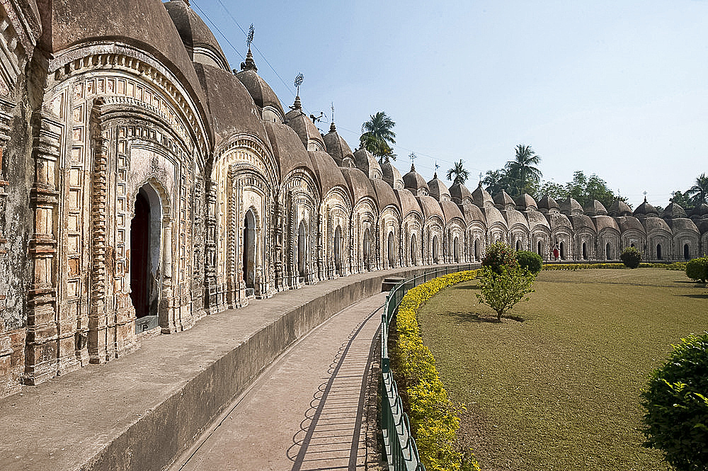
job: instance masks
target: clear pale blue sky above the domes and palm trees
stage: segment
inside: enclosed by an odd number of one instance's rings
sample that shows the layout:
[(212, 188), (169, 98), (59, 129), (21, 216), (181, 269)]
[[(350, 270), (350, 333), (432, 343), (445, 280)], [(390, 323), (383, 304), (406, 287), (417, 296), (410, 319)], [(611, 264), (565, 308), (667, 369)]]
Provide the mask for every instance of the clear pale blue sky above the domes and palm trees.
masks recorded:
[(191, 6), (234, 69), (246, 53), (234, 19), (244, 30), (253, 23), (258, 73), (285, 109), (302, 72), (307, 113), (324, 111), (326, 132), (333, 102), (352, 148), (369, 115), (385, 111), (396, 122), (401, 174), (411, 152), (426, 179), (435, 161), (442, 174), (462, 159), (472, 189), (516, 144), (531, 144), (544, 179), (595, 173), (636, 207), (644, 191), (666, 206), (671, 191), (708, 173), (708, 1)]

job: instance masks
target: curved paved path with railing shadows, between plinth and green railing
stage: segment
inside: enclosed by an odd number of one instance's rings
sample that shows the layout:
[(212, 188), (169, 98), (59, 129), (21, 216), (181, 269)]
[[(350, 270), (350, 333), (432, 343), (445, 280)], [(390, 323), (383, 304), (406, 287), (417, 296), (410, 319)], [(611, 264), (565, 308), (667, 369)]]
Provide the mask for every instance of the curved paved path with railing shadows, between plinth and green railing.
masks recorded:
[(363, 470), (366, 378), (385, 297), (347, 307), (282, 353), (171, 471)]

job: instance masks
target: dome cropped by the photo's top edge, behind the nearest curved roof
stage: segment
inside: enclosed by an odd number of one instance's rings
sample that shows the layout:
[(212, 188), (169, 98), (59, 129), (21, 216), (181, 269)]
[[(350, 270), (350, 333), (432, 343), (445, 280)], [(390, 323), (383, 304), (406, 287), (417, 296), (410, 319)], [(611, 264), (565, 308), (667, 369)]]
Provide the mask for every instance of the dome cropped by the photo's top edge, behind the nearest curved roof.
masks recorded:
[(202, 18), (189, 7), (188, 1), (172, 0), (164, 6), (193, 62), (231, 72), (219, 42)]

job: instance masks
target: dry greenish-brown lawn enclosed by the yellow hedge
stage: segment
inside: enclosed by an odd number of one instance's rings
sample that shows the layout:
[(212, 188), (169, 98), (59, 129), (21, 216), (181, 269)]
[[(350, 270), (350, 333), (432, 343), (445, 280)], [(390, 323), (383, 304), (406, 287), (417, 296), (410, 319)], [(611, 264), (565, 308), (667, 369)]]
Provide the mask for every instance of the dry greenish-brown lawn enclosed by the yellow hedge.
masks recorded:
[(639, 392), (708, 295), (680, 271), (542, 271), (504, 318), (460, 283), (419, 312), (423, 340), (483, 470), (667, 470), (641, 446)]

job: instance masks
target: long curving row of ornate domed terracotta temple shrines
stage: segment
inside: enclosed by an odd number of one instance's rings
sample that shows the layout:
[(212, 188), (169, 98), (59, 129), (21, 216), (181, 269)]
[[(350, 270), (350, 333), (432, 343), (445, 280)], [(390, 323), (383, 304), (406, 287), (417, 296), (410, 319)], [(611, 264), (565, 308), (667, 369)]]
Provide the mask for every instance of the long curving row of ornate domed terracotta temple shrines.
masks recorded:
[(0, 0), (0, 395), (142, 336), (305, 284), (479, 261), (688, 259), (708, 207), (581, 208), (401, 176), (250, 54), (232, 71), (185, 0)]

